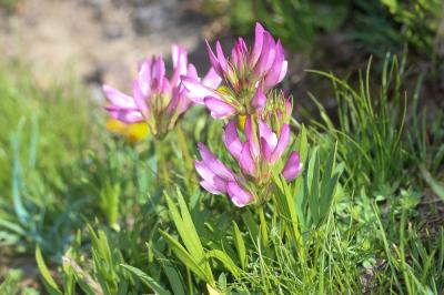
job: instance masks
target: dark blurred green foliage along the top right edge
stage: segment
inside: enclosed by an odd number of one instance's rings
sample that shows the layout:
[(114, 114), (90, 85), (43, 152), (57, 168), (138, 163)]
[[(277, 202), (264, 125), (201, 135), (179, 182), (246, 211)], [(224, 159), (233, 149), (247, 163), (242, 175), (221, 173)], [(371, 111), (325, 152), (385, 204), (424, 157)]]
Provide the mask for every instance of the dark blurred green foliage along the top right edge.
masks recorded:
[(261, 21), (293, 51), (311, 52), (319, 34), (341, 31), (380, 57), (405, 44), (424, 59), (444, 57), (441, 0), (204, 0), (203, 11), (241, 34)]

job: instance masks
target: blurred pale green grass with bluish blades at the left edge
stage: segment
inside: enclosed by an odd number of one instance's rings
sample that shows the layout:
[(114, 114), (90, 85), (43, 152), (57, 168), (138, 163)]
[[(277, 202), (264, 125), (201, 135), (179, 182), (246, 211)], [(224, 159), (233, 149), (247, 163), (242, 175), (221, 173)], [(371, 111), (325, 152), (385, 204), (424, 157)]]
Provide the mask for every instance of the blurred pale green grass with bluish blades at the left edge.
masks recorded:
[(72, 213), (87, 200), (72, 184), (89, 143), (91, 101), (69, 77), (42, 89), (29, 72), (1, 60), (0, 242), (24, 248), (40, 243), (57, 254), (80, 221)]

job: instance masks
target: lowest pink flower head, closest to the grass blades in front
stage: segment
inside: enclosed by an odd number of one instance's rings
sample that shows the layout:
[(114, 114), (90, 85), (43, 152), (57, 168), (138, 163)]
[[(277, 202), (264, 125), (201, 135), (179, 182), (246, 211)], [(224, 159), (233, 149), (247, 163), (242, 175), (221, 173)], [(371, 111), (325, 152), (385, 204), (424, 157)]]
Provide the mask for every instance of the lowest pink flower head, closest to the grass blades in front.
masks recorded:
[(202, 143), (199, 144), (202, 161), (195, 161), (202, 187), (212, 194), (228, 194), (236, 206), (265, 202), (272, 190), (273, 171), (281, 171), (282, 176), (291, 182), (302, 169), (295, 151), (289, 153), (284, 165), (281, 161), (290, 141), (289, 124), (283, 124), (276, 133), (265, 121), (255, 123), (248, 116), (243, 133), (245, 141), (241, 140), (236, 123), (231, 120), (223, 136), (226, 149), (238, 163), (238, 173), (226, 167)]

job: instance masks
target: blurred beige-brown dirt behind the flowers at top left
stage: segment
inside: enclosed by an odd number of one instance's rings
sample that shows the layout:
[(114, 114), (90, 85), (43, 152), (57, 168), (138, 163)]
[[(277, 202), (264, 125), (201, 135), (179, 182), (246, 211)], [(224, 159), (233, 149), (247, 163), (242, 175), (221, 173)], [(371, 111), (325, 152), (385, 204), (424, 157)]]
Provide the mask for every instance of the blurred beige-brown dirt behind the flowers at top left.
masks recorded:
[(68, 73), (128, 88), (140, 60), (172, 43), (195, 50), (203, 24), (180, 0), (23, 0), (0, 11), (0, 48), (43, 85)]

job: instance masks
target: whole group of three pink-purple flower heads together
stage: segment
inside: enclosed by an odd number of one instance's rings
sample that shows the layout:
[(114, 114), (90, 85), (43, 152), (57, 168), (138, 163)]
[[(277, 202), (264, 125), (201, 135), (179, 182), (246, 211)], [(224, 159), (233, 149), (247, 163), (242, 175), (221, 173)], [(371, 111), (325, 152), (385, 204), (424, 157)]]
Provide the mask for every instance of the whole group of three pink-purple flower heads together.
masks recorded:
[(297, 152), (286, 151), (292, 104), (283, 91), (274, 89), (286, 74), (283, 47), (260, 23), (251, 49), (242, 38), (230, 58), (219, 41), (215, 53), (208, 42), (206, 47), (212, 68), (202, 80), (188, 62), (185, 50), (173, 45), (170, 79), (162, 55), (153, 57), (139, 67), (132, 96), (103, 87), (109, 100), (107, 110), (125, 124), (145, 122), (158, 139), (174, 128), (192, 103), (204, 104), (215, 119), (230, 119), (223, 142), (232, 169), (199, 143), (201, 160), (195, 161), (195, 170), (200, 184), (211, 194), (229, 195), (240, 207), (263, 204), (272, 194), (273, 172), (291, 182), (302, 169)]

